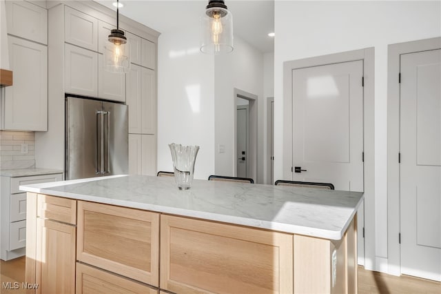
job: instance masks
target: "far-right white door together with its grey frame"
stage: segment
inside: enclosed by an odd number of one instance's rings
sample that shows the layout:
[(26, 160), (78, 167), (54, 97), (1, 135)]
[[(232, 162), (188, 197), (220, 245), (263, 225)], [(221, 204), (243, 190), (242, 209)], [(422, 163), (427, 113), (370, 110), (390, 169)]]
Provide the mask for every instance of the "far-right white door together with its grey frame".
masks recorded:
[(389, 78), (390, 272), (441, 281), (441, 38), (390, 45)]

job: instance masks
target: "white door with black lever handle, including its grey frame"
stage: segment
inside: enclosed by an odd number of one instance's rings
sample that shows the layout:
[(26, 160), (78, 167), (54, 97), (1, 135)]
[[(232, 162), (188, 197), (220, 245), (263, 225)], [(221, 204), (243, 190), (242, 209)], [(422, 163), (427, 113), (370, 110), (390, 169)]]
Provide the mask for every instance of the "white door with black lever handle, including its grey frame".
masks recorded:
[[(374, 49), (366, 48), (285, 61), (283, 75), (283, 179), (331, 182), (336, 190), (364, 192), (357, 243), (358, 264), (367, 269), (376, 262), (373, 65)], [(343, 174), (344, 179), (335, 177)]]

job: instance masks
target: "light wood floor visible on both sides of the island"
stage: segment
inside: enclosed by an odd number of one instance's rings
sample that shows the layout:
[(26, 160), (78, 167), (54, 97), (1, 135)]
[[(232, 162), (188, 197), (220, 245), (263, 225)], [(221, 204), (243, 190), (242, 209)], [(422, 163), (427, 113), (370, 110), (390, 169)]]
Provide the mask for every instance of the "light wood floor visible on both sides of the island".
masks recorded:
[[(24, 257), (0, 262), (1, 283), (21, 282), (25, 280)], [(23, 289), (5, 290), (0, 288), (1, 294), (25, 293)], [(359, 294), (441, 294), (441, 283), (402, 275), (396, 277), (374, 271), (366, 271), (358, 267), (358, 293)]]

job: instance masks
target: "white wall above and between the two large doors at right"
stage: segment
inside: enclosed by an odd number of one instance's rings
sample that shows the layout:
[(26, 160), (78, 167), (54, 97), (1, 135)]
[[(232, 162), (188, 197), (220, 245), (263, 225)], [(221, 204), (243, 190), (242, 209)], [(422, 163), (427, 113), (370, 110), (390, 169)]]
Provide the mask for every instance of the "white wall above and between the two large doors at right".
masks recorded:
[[(375, 48), (376, 256), (387, 271), (387, 46), (441, 35), (441, 1), (278, 1), (275, 3), (275, 154), (283, 154), (283, 62)], [(275, 178), (283, 177), (275, 156)]]

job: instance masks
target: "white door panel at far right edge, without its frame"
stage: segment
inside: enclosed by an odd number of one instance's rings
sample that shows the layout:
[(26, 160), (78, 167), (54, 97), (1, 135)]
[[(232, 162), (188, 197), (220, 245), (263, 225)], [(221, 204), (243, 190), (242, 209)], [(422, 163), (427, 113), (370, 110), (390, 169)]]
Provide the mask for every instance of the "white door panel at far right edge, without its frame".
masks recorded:
[(400, 57), (401, 272), (441, 281), (441, 50)]

